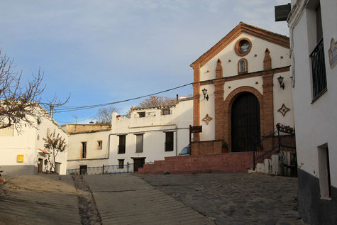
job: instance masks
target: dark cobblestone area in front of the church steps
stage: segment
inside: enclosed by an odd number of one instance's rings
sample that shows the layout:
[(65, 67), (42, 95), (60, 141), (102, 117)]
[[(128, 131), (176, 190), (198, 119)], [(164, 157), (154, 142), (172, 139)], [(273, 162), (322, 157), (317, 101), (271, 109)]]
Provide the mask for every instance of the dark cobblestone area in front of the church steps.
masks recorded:
[(137, 175), (216, 224), (304, 224), (297, 178), (261, 174)]

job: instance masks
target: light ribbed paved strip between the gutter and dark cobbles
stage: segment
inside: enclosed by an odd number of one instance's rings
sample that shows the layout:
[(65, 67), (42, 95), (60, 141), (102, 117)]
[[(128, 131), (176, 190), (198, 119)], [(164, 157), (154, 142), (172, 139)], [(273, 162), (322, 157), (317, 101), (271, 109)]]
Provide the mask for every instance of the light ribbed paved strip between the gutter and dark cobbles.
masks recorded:
[(214, 224), (134, 175), (87, 175), (102, 224)]

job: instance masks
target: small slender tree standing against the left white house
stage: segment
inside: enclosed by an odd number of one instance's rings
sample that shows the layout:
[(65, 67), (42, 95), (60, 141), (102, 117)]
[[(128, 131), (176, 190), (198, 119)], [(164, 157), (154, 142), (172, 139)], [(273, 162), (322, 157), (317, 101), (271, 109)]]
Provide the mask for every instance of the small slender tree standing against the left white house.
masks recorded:
[[(48, 163), (50, 164), (49, 171), (55, 171), (55, 160), (58, 153), (65, 152), (67, 148), (67, 144), (65, 138), (60, 136), (60, 133), (57, 133), (54, 130), (53, 133), (47, 135), (47, 138), (43, 138), (45, 141), (45, 148), (49, 151), (50, 156), (48, 156)], [(50, 159), (50, 157), (52, 159)]]

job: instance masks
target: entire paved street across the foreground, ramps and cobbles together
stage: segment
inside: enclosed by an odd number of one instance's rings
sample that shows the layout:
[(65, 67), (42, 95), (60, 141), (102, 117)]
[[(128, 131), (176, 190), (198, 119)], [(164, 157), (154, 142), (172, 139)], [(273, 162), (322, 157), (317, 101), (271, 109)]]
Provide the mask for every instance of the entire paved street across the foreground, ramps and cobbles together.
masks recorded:
[(35, 175), (0, 187), (0, 224), (304, 224), (294, 177)]

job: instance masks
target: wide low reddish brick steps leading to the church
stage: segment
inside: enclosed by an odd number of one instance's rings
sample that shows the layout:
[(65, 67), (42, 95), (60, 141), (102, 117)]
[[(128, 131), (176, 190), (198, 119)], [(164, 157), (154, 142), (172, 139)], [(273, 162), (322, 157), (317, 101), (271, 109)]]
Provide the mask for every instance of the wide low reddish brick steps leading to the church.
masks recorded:
[(153, 164), (138, 168), (136, 174), (187, 174), (209, 172), (248, 172), (252, 167), (253, 152), (224, 153), (217, 155), (189, 155), (165, 157)]

